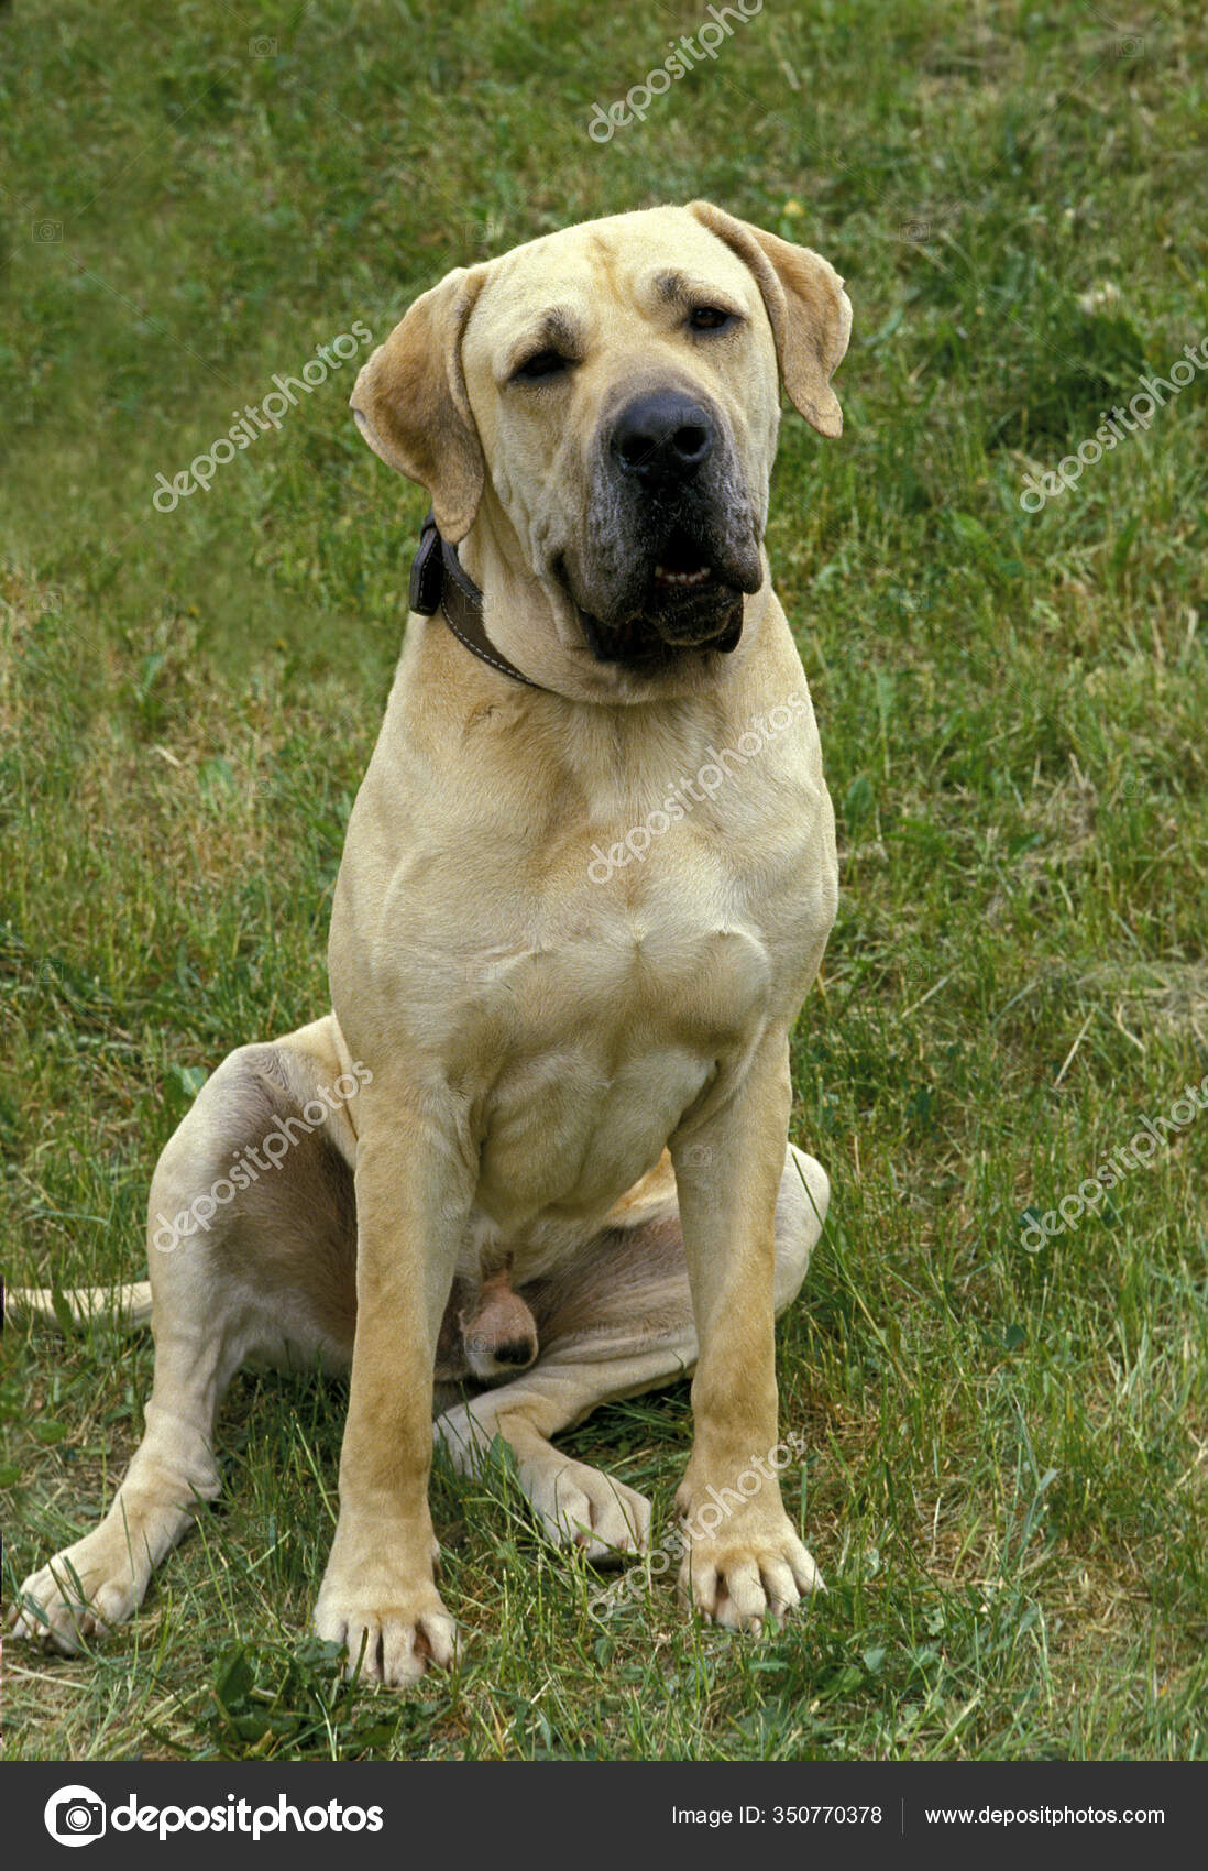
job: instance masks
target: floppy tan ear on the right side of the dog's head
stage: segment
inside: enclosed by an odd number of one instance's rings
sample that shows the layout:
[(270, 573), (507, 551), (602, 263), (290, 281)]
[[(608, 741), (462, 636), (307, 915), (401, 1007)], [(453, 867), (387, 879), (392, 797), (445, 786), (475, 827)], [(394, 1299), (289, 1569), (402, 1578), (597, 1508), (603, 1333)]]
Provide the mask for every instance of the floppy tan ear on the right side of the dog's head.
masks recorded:
[(688, 202), (688, 211), (755, 275), (793, 406), (821, 436), (840, 436), (843, 412), (830, 378), (847, 350), (851, 301), (836, 269), (810, 247), (795, 247), (754, 228), (750, 221), (735, 221), (712, 202)]

